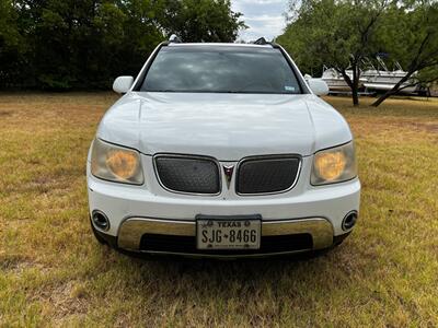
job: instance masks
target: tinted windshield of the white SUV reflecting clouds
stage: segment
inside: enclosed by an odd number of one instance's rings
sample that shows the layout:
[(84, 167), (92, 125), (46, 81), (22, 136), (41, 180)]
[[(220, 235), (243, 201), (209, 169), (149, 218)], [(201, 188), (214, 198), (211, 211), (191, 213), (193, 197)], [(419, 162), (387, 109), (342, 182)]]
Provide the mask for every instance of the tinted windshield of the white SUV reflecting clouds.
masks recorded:
[(301, 87), (276, 48), (163, 47), (140, 91), (298, 94)]

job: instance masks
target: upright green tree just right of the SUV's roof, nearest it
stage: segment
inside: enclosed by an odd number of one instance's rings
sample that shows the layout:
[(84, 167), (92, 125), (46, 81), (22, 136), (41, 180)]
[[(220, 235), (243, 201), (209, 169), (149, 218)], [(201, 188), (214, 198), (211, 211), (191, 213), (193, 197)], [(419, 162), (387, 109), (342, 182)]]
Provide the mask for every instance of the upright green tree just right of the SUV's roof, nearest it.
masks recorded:
[[(277, 40), (304, 68), (326, 65), (336, 69), (358, 105), (362, 60), (376, 48), (376, 26), (385, 0), (292, 0), (290, 23)], [(347, 74), (353, 71), (353, 77)]]

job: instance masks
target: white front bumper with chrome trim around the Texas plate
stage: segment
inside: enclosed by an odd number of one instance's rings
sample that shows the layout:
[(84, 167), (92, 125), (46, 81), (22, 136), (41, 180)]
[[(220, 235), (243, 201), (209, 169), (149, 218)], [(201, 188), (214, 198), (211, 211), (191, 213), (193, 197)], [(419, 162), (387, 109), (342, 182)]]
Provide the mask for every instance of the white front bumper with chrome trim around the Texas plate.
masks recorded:
[[(351, 211), (359, 212), (360, 183), (356, 178), (342, 184), (312, 187), (308, 183), (310, 171), (307, 167), (310, 165), (303, 165), (301, 178), (292, 190), (254, 197), (240, 197), (231, 191), (223, 191), (215, 197), (176, 195), (163, 190), (153, 178), (153, 172), (147, 172), (146, 188), (104, 181), (93, 177), (88, 169), (90, 214), (96, 210), (105, 213), (110, 229), (94, 229), (114, 241), (113, 245), (117, 248), (130, 251), (240, 257), (327, 248), (350, 232), (342, 229), (342, 222)], [(261, 215), (262, 248), (254, 254), (227, 255), (199, 253), (195, 246), (188, 247), (188, 244), (196, 245), (195, 218), (199, 214), (230, 218)], [(296, 241), (292, 238), (291, 243), (297, 247), (275, 247), (277, 237), (278, 243), (286, 243), (287, 236), (304, 238), (304, 235), (310, 236), (310, 243), (295, 245)], [(148, 236), (163, 236), (174, 247), (145, 247)], [(263, 247), (263, 238), (274, 243), (268, 251)], [(184, 245), (187, 247), (183, 247)]]

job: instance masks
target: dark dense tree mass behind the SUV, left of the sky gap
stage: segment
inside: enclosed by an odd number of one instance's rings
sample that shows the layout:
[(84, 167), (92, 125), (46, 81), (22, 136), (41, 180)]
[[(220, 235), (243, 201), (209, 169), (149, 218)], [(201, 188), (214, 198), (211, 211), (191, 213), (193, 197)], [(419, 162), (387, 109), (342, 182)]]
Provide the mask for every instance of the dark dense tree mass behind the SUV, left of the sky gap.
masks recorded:
[(0, 0), (0, 86), (107, 89), (176, 33), (232, 42), (229, 0)]

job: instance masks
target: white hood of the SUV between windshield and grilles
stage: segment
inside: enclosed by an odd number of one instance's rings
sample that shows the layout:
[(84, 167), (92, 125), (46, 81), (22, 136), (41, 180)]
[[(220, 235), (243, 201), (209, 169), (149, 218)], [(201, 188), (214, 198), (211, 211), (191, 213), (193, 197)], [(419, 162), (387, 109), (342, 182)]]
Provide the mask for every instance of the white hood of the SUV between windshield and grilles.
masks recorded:
[(105, 114), (97, 138), (153, 155), (239, 161), (313, 154), (351, 140), (344, 118), (314, 95), (129, 93)]

